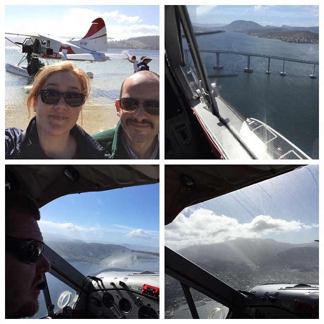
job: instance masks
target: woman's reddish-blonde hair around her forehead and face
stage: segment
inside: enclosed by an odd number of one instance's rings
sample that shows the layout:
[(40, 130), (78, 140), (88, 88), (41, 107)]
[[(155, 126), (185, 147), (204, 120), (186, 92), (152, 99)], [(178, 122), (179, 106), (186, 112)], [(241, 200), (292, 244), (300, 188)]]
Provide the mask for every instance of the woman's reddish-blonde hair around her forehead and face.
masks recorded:
[(76, 67), (76, 65), (69, 61), (62, 61), (59, 63), (47, 65), (41, 68), (37, 74), (35, 75), (35, 79), (33, 82), (33, 87), (27, 96), (27, 109), (29, 113), (29, 117), (31, 115), (31, 111), (33, 111), (34, 101), (36, 100), (36, 96), (39, 93), (39, 90), (42, 89), (46, 80), (56, 72), (65, 72), (71, 71), (75, 74), (81, 84), (81, 91), (86, 96), (85, 101), (89, 99), (90, 96), (90, 79), (87, 73)]

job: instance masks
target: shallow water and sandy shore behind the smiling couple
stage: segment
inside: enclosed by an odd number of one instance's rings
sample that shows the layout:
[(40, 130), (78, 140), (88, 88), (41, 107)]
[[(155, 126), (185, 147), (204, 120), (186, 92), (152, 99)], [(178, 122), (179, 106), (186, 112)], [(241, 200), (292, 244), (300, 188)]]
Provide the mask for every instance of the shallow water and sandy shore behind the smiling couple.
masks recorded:
[[(108, 53), (121, 53), (121, 50), (108, 50)], [(159, 74), (159, 51), (130, 50), (129, 54), (136, 55), (138, 59), (143, 55), (152, 57), (153, 60), (149, 63), (150, 70)], [(21, 57), (21, 50), (18, 47), (6, 47), (6, 63), (18, 64)], [(90, 101), (83, 106), (78, 125), (91, 135), (115, 127), (119, 119), (114, 106), (115, 99), (119, 97), (121, 83), (133, 73), (133, 64), (127, 60), (74, 63), (84, 71), (94, 74), (91, 79)], [(7, 71), (5, 76), (5, 127), (19, 127), (25, 130), (29, 123), (26, 106), (29, 91), (29, 87), (26, 86), (27, 78)]]

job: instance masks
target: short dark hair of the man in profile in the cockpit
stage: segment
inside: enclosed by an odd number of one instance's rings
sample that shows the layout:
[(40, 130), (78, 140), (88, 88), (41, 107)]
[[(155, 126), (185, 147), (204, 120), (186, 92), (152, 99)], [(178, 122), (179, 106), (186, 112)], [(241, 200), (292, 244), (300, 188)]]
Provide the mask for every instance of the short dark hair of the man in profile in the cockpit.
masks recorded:
[(18, 191), (6, 191), (5, 209), (6, 233), (14, 228), (13, 216), (16, 213), (24, 213), (27, 216), (35, 217), (37, 221), (41, 219), (41, 213), (35, 201)]

